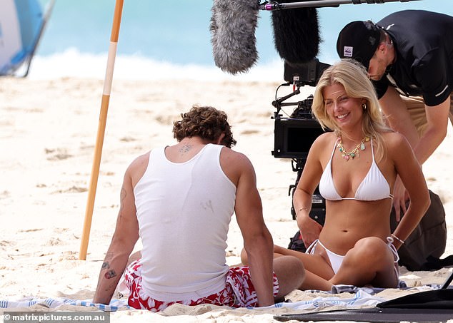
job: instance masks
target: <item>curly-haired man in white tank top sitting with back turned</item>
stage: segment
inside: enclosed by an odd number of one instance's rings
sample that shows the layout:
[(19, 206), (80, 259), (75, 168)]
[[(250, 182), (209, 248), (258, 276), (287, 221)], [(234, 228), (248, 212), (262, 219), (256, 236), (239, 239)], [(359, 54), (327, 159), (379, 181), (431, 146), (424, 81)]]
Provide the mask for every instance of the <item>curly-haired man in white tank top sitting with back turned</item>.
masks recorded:
[[(227, 115), (194, 106), (174, 122), (176, 145), (136, 158), (124, 175), (116, 229), (93, 302), (109, 304), (124, 273), (128, 304), (161, 311), (171, 304), (263, 307), (301, 286), (296, 257), (273, 258), (254, 168), (236, 143)], [(229, 222), (236, 214), (249, 266), (226, 264)], [(253, 279), (252, 279), (253, 277)]]

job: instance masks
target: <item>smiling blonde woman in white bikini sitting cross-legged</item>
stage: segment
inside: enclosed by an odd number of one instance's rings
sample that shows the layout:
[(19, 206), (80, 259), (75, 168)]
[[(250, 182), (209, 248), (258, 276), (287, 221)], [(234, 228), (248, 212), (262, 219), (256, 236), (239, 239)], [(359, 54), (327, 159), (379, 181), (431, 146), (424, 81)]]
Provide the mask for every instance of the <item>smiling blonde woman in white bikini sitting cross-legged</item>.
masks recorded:
[[(429, 207), (427, 183), (412, 148), (384, 125), (372, 82), (355, 61), (339, 61), (324, 71), (312, 111), (323, 128), (333, 131), (314, 141), (294, 193), (297, 225), (308, 250), (275, 246), (274, 255), (302, 260), (306, 279), (300, 289), (397, 287), (397, 249)], [(411, 203), (391, 232), (397, 176)], [(326, 200), (324, 226), (309, 217), (317, 185)], [(242, 260), (248, 262), (244, 252)]]

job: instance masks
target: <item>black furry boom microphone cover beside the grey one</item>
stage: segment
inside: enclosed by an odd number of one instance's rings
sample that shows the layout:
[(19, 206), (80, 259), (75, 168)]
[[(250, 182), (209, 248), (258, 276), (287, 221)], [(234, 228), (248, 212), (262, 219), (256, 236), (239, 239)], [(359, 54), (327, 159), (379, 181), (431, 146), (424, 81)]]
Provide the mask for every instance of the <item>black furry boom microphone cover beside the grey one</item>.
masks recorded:
[[(280, 0), (298, 2), (300, 0)], [(316, 8), (272, 11), (275, 48), (290, 65), (306, 63), (319, 51), (319, 25)]]

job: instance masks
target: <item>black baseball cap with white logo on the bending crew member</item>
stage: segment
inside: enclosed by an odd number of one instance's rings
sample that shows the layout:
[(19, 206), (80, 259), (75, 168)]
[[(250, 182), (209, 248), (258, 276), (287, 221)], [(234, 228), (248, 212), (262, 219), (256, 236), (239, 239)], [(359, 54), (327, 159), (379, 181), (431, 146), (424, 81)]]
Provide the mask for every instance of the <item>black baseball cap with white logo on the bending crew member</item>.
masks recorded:
[(354, 58), (369, 68), (369, 60), (379, 46), (380, 27), (372, 21), (352, 21), (340, 31), (337, 53), (340, 58)]

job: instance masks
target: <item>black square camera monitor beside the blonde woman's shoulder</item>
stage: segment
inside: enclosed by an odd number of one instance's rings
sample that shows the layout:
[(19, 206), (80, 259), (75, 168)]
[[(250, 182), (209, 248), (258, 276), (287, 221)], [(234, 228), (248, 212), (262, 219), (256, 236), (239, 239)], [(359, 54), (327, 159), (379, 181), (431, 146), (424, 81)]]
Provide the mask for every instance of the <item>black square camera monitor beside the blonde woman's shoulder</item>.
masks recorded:
[(322, 133), (324, 130), (314, 119), (276, 118), (272, 155), (307, 159), (312, 143)]

